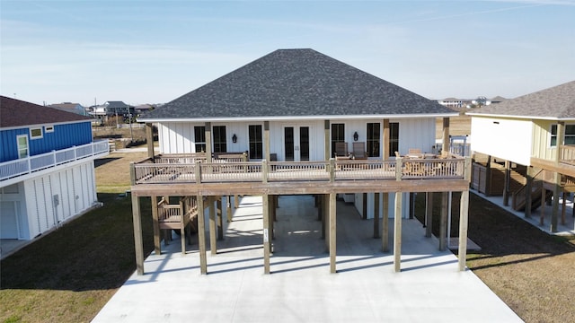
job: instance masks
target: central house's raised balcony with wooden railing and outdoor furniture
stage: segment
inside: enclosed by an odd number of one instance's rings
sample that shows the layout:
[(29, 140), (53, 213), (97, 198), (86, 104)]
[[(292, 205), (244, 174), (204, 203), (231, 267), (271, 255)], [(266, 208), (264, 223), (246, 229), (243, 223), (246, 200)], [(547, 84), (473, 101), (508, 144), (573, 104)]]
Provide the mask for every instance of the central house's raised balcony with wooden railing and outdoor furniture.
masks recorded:
[[(188, 188), (195, 185), (226, 184), (225, 188), (234, 190), (240, 184), (260, 188), (285, 186), (325, 187), (347, 185), (358, 187), (362, 182), (382, 186), (382, 181), (397, 183), (399, 181), (417, 181), (421, 191), (426, 189), (426, 181), (431, 184), (438, 180), (468, 180), (471, 160), (458, 155), (440, 158), (427, 155), (424, 158), (397, 157), (391, 161), (381, 160), (335, 160), (317, 162), (246, 162), (238, 158), (213, 159), (207, 162), (202, 154), (158, 155), (131, 165), (132, 188), (147, 186), (153, 191), (164, 186), (175, 189), (174, 184), (185, 184)], [(252, 183), (252, 184), (251, 184)], [(306, 183), (306, 184), (305, 184)], [(311, 183), (311, 184), (310, 184)], [(167, 185), (167, 186), (166, 186)], [(467, 184), (468, 185), (468, 184)], [(244, 185), (243, 188), (246, 188)], [(383, 189), (383, 188), (382, 188)], [(319, 190), (319, 189), (316, 189)]]

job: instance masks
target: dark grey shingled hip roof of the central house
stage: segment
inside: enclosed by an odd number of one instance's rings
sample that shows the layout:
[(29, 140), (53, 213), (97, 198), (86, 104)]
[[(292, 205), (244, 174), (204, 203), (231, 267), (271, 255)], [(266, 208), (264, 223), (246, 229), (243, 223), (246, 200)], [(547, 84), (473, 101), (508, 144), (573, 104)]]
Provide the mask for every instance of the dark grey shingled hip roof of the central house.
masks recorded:
[(414, 114), (454, 111), (313, 49), (279, 49), (140, 119)]

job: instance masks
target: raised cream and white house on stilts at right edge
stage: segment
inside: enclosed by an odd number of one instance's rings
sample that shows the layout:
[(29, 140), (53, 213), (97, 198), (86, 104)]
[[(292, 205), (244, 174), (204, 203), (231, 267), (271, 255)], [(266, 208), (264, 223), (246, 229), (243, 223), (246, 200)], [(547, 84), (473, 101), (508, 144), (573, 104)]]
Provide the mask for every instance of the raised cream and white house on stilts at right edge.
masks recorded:
[[(557, 231), (560, 197), (565, 201), (575, 192), (575, 81), (466, 114), (472, 117), (472, 150), (489, 156), (473, 165), (473, 187), (503, 195), (505, 205), (511, 200), (527, 217), (553, 196), (548, 224)], [(503, 170), (503, 180), (495, 179), (496, 168)], [(564, 211), (563, 205), (563, 223)]]

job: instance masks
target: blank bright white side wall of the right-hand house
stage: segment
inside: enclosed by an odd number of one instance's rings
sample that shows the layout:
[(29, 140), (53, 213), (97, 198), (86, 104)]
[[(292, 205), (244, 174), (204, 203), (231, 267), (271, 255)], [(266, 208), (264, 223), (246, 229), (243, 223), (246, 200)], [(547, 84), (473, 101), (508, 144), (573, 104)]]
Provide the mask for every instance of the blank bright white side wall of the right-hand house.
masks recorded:
[(531, 120), (512, 118), (471, 118), (473, 152), (485, 153), (529, 166), (533, 145)]

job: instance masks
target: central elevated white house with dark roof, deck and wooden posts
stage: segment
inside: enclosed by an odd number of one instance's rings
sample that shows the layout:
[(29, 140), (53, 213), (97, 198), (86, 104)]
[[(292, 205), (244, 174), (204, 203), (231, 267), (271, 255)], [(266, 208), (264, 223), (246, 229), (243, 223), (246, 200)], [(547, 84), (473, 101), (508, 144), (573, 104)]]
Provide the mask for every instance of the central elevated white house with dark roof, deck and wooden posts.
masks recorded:
[[(356, 205), (364, 218), (374, 218), (374, 235), (381, 234), (384, 250), (388, 222), (378, 231), (379, 219), (395, 218), (394, 270), (399, 271), (401, 223), (411, 214), (410, 193), (448, 191), (463, 192), (463, 270), (470, 161), (449, 153), (449, 140), (440, 155), (432, 153), (437, 118), (448, 138), (449, 118), (456, 115), (437, 101), (313, 49), (276, 50), (184, 94), (138, 118), (150, 139), (152, 125), (157, 126), (160, 145), (159, 155), (148, 146), (149, 158), (132, 165), (138, 273), (144, 273), (140, 196), (152, 196), (156, 252), (158, 226), (169, 228), (169, 198), (157, 197), (181, 198), (177, 216), (183, 224), (209, 207), (213, 228), (220, 212), (211, 210), (222, 205), (222, 196), (262, 196), (263, 262), (269, 273), (276, 197), (313, 195), (333, 273), (338, 196)], [(206, 273), (204, 217), (197, 220), (201, 272)], [(216, 233), (209, 235), (215, 253)], [(442, 236), (440, 248), (445, 248)]]

